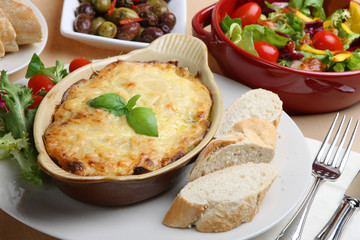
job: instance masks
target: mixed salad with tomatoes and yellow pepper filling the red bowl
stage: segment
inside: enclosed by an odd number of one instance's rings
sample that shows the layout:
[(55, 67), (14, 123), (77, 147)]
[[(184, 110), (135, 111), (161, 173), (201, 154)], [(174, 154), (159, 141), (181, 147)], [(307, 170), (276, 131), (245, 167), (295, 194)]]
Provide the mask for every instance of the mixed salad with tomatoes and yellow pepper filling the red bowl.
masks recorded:
[(323, 1), (248, 2), (220, 27), (241, 49), (282, 66), (314, 72), (360, 69), (360, 3), (326, 16)]

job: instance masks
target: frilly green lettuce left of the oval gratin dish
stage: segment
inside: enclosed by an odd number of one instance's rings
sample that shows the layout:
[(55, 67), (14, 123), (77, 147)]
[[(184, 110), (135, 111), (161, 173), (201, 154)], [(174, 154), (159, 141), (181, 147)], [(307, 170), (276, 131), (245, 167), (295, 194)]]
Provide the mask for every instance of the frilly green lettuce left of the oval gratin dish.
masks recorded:
[(16, 160), (21, 167), (20, 177), (43, 184), (43, 173), (37, 164), (37, 151), (32, 135), (36, 109), (28, 109), (33, 102), (31, 90), (9, 81), (6, 71), (0, 76), (0, 154), (1, 159)]

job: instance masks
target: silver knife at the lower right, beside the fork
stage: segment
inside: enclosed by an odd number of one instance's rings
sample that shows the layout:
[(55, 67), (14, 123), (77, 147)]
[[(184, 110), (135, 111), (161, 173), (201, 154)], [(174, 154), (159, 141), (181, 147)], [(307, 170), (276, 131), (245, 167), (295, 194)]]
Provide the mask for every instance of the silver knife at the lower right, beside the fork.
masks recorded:
[(346, 223), (360, 204), (360, 171), (346, 190), (340, 206), (314, 240), (339, 240)]

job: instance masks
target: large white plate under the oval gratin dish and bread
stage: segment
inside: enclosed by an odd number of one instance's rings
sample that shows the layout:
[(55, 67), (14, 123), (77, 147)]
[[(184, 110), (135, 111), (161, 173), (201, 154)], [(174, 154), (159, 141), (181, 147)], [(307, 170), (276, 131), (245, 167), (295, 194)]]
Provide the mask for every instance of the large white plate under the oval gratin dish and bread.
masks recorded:
[[(224, 97), (224, 108), (249, 88), (215, 74)], [(24, 81), (23, 81), (24, 83)], [(272, 164), (280, 172), (258, 214), (225, 233), (200, 233), (162, 224), (185, 179), (175, 188), (148, 201), (126, 207), (95, 207), (77, 202), (53, 184), (46, 189), (18, 178), (15, 162), (0, 161), (0, 207), (19, 221), (60, 239), (240, 240), (259, 235), (283, 219), (301, 200), (311, 179), (312, 159), (304, 136), (283, 113)]]

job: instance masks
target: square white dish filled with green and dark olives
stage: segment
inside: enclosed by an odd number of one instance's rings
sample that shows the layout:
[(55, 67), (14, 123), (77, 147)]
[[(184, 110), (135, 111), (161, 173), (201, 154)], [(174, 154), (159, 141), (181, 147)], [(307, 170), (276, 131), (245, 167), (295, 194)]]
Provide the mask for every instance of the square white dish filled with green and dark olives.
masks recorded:
[(131, 51), (186, 33), (184, 0), (64, 0), (60, 32), (98, 48)]

